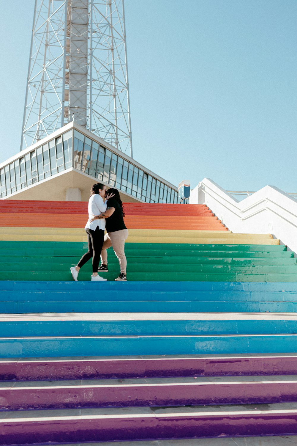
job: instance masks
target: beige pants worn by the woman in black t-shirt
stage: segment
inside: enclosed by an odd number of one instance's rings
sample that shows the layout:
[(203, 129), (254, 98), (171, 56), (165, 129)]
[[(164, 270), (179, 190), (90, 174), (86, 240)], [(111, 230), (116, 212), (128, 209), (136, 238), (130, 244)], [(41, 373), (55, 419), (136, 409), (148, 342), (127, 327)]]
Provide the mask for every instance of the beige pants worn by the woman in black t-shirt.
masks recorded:
[(107, 248), (114, 248), (114, 253), (118, 257), (121, 273), (126, 274), (127, 260), (125, 256), (125, 240), (128, 237), (128, 229), (108, 232), (104, 237), (101, 251), (101, 264), (107, 265)]

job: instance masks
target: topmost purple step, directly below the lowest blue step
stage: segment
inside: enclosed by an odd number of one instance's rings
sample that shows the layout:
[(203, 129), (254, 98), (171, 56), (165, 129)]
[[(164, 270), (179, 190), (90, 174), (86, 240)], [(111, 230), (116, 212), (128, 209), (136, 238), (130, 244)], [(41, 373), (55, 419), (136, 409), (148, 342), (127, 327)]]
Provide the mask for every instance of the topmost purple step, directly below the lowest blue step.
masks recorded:
[(297, 354), (0, 359), (0, 380), (293, 375)]

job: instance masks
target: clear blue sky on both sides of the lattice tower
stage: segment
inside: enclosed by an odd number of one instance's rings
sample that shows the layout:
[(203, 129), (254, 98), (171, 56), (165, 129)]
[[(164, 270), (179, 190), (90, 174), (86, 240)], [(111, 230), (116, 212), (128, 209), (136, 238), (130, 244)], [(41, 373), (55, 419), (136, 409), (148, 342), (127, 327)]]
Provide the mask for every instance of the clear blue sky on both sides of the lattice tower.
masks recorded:
[[(0, 162), (20, 148), (33, 0), (1, 2)], [(134, 158), (175, 185), (297, 192), (297, 1), (125, 0)]]

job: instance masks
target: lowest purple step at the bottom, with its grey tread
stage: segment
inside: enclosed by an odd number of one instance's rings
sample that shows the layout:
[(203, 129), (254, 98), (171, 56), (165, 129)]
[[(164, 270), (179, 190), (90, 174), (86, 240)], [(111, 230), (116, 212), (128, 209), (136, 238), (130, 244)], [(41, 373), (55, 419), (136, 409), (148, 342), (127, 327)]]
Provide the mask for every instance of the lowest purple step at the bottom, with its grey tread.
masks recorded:
[(0, 413), (1, 442), (20, 445), (297, 433), (297, 404)]

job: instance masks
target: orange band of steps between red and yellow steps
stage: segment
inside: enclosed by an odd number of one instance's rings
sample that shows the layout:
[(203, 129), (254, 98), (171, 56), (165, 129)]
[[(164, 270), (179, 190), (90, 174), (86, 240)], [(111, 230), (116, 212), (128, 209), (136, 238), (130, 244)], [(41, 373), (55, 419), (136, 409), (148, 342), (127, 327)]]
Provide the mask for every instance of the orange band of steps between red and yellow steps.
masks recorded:
[[(87, 215), (71, 214), (0, 214), (1, 227), (84, 227)], [(134, 229), (193, 229), (201, 231), (227, 230), (216, 217), (180, 217), (127, 215), (125, 223)]]

